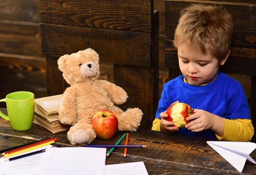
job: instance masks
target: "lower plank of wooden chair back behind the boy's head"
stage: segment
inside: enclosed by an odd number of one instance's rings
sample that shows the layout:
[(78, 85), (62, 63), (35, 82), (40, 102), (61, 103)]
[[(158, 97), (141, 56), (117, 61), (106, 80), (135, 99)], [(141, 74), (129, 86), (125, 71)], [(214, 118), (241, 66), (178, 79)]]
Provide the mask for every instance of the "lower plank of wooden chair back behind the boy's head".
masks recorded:
[[(169, 68), (179, 68), (173, 37), (166, 37), (165, 62)], [(231, 53), (221, 71), (230, 74), (256, 76), (256, 44), (231, 42)]]

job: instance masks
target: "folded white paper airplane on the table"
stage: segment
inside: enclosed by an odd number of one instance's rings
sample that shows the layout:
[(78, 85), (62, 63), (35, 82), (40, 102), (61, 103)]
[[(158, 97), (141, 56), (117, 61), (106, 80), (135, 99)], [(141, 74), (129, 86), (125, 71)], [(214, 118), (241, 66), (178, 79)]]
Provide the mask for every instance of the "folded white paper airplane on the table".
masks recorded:
[(256, 164), (250, 153), (256, 148), (252, 142), (235, 141), (207, 141), (210, 147), (218, 152), (226, 161), (228, 161), (239, 172), (242, 172), (246, 159)]

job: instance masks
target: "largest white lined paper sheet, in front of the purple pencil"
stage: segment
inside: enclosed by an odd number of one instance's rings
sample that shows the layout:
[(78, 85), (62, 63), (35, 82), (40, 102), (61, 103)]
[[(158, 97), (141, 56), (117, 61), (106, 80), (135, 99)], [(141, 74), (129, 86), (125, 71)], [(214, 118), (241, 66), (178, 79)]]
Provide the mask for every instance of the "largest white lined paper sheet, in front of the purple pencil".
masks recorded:
[(106, 148), (64, 147), (46, 150), (42, 175), (102, 175)]

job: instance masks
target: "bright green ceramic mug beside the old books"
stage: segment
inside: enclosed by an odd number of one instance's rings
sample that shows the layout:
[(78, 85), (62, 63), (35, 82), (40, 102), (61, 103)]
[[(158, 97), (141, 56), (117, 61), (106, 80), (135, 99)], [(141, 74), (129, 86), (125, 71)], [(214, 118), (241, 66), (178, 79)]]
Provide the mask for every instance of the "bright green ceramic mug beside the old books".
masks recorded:
[(0, 102), (6, 102), (8, 113), (6, 116), (0, 111), (0, 116), (10, 121), (14, 130), (24, 131), (32, 127), (35, 112), (33, 93), (26, 91), (9, 93)]

